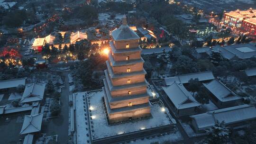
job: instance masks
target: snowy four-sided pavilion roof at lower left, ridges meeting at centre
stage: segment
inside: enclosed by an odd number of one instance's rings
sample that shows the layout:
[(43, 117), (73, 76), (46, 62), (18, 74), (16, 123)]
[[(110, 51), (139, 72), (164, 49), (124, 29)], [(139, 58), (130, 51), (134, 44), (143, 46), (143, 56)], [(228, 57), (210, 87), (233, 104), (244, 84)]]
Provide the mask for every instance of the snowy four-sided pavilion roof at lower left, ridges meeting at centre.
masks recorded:
[(25, 115), (20, 135), (41, 131), (43, 113), (36, 115)]

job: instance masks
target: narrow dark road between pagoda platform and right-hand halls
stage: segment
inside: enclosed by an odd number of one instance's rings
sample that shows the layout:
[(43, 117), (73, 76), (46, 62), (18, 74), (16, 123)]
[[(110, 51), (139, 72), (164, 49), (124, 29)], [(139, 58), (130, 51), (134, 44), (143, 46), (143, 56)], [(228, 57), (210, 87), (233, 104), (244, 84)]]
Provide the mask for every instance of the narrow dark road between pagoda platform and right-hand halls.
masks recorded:
[[(153, 85), (153, 81), (150, 80), (149, 83)], [(157, 90), (155, 88), (155, 91), (159, 94), (159, 98), (163, 101), (165, 107), (167, 107), (169, 109), (170, 114), (176, 120), (176, 122), (177, 122), (176, 126), (177, 126), (178, 130), (180, 131), (181, 135), (183, 136), (182, 141), (174, 142), (173, 144), (181, 144), (181, 143), (183, 143), (183, 144), (193, 144), (194, 142), (197, 142), (197, 141), (201, 140), (202, 136), (201, 137), (194, 137), (194, 138), (188, 137), (188, 135), (186, 134), (186, 132), (182, 128), (181, 124), (178, 122), (178, 119), (174, 116), (174, 114), (171, 110), (171, 107), (172, 107), (171, 103), (169, 102), (166, 95), (163, 94), (162, 90)]]

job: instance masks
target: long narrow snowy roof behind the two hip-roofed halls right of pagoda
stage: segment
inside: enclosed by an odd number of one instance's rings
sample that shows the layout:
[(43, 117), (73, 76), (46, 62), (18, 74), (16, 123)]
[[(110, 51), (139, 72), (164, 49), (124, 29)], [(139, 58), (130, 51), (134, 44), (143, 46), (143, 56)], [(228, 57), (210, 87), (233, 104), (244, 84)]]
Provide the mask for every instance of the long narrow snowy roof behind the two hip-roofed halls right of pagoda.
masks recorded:
[(182, 75), (176, 75), (174, 77), (165, 78), (166, 86), (171, 85), (174, 83), (188, 83), (191, 79), (198, 79), (199, 81), (208, 81), (213, 80), (214, 76), (211, 71), (207, 72), (195, 72), (195, 73), (188, 73)]

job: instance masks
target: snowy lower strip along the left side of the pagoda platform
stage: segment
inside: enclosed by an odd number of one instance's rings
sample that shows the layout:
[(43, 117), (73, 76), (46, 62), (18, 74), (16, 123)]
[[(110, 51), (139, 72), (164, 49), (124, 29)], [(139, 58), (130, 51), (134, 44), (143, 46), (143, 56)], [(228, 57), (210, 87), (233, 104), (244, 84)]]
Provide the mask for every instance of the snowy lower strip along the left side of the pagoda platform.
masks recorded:
[(83, 100), (83, 96), (86, 96), (85, 92), (75, 93), (75, 123), (77, 144), (88, 144), (87, 140), (90, 141), (89, 136), (87, 136), (87, 134), (90, 135), (90, 132), (88, 131), (88, 125), (86, 125), (88, 120), (85, 119), (86, 117), (84, 115), (87, 113), (87, 108), (86, 103)]

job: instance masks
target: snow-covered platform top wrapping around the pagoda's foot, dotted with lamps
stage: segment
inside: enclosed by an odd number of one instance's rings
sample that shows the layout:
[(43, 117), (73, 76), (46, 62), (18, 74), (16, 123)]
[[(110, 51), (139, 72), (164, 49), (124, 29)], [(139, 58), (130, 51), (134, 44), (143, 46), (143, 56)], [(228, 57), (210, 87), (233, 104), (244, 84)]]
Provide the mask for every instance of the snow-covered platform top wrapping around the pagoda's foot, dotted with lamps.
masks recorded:
[(167, 114), (162, 111), (162, 107), (156, 103), (151, 107), (152, 118), (109, 126), (101, 101), (102, 97), (103, 91), (90, 92), (88, 94), (88, 101), (90, 100), (89, 103), (91, 104), (89, 108), (91, 109), (91, 117), (93, 117), (94, 139), (172, 124)]

